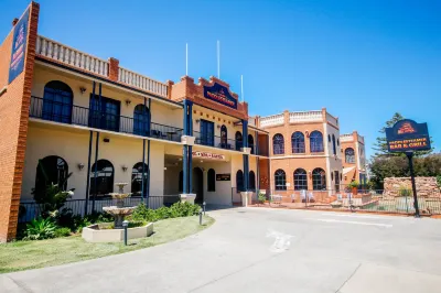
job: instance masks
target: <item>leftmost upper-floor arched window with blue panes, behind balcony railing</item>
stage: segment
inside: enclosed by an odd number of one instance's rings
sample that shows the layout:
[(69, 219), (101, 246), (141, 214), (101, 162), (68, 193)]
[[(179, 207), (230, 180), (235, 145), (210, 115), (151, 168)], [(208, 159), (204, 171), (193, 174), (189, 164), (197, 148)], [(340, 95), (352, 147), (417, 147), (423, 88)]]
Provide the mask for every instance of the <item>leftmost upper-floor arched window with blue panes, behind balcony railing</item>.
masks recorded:
[(53, 80), (44, 86), (42, 118), (63, 123), (72, 122), (74, 95), (65, 83)]

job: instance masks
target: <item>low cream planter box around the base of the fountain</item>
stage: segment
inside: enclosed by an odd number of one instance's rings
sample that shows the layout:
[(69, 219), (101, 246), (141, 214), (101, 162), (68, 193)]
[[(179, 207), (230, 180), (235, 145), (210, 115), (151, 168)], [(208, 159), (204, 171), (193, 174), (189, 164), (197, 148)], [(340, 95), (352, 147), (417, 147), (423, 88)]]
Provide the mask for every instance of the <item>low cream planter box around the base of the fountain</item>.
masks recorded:
[[(111, 223), (94, 224), (83, 228), (82, 237), (87, 242), (121, 242), (123, 241), (123, 229), (103, 229)], [(101, 229), (100, 229), (101, 228)], [(128, 228), (127, 239), (149, 237), (153, 234), (153, 223), (142, 227)]]

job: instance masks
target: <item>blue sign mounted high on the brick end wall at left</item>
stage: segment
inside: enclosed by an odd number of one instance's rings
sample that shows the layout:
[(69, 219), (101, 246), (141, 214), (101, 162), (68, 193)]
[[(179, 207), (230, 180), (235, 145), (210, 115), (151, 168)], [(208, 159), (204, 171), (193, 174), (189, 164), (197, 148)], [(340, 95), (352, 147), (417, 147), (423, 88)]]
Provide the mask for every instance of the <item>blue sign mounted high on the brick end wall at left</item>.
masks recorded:
[(14, 26), (11, 62), (9, 64), (9, 84), (23, 72), (29, 30), (29, 9)]

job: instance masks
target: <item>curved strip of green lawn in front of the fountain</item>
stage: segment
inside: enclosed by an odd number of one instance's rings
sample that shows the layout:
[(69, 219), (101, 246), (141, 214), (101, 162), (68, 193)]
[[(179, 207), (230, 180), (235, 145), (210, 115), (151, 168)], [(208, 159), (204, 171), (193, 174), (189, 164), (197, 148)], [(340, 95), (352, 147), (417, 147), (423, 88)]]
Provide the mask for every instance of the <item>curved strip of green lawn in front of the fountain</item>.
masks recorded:
[(198, 232), (214, 223), (204, 217), (200, 226), (198, 216), (164, 219), (154, 223), (154, 234), (148, 238), (122, 243), (88, 243), (80, 236), (71, 236), (40, 241), (15, 241), (0, 245), (0, 273), (44, 268), (68, 262), (96, 259), (158, 246)]

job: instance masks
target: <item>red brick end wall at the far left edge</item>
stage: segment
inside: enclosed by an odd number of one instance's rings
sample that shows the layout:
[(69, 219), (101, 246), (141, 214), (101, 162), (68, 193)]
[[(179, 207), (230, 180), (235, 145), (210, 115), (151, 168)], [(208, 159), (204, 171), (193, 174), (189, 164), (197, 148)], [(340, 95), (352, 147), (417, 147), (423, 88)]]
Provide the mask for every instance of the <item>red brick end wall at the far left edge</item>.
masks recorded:
[(39, 10), (37, 3), (30, 4), (24, 68), (10, 85), (8, 85), (8, 79), (13, 29), (0, 46), (0, 89), (7, 87), (7, 91), (0, 96), (2, 129), (0, 140), (0, 241), (13, 239), (17, 232)]

